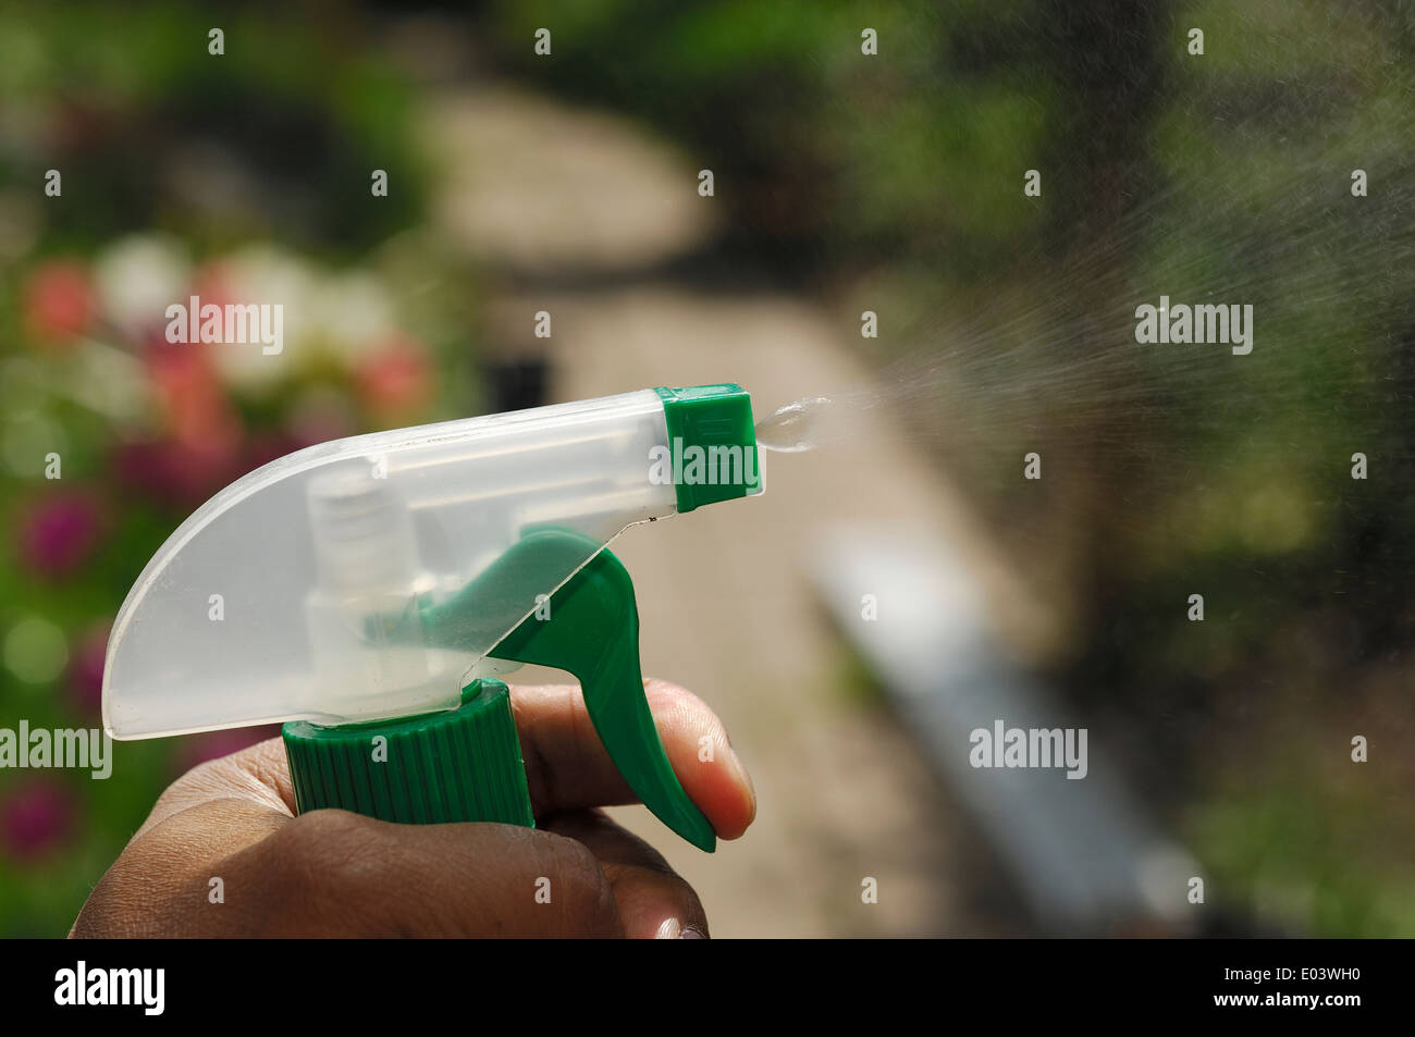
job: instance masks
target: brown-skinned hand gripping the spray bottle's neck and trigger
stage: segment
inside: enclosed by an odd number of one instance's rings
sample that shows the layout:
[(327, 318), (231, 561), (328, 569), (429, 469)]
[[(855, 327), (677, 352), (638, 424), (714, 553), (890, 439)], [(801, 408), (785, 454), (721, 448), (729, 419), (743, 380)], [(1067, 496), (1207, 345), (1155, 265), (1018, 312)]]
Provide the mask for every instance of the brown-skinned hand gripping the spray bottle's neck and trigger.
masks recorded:
[[(676, 685), (644, 690), (683, 791), (720, 838), (739, 838), (756, 795), (722, 722)], [(634, 798), (580, 689), (512, 688), (511, 703), (538, 828), (296, 816), (270, 738), (173, 782), (69, 935), (705, 937), (692, 887), (597, 809)], [(209, 898), (216, 877), (222, 903)], [(541, 879), (550, 903), (536, 901)]]

